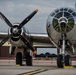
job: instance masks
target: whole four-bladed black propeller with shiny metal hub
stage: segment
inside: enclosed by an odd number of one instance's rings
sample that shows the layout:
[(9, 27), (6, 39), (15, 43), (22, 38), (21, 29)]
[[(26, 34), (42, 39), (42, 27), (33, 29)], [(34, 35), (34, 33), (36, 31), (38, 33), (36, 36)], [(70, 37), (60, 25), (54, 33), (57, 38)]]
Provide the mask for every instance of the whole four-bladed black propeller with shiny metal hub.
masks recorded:
[(23, 41), (23, 43), (30, 48), (32, 51), (34, 51), (34, 48), (32, 47), (32, 45), (30, 44), (30, 42), (27, 40), (26, 37), (23, 37), (20, 33), (21, 33), (21, 28), (38, 12), (38, 9), (36, 9), (35, 11), (33, 11), (29, 16), (27, 16), (19, 25), (12, 25), (11, 22), (0, 12), (0, 17), (1, 19), (3, 19), (6, 24), (11, 27), (11, 34), (8, 35), (6, 38), (4, 38), (1, 42), (0, 42), (0, 46), (2, 46), (6, 41), (8, 41), (9, 38), (11, 38), (14, 35), (20, 36), (21, 40)]

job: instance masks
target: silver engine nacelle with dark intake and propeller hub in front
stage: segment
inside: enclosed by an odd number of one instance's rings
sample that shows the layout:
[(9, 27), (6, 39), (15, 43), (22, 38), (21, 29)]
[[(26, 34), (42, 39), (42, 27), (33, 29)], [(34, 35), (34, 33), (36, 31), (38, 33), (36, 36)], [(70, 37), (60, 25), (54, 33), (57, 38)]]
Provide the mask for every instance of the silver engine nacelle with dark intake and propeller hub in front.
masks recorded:
[(9, 42), (14, 46), (21, 46), (23, 44), (20, 39), (20, 35), (23, 36), (23, 28), (19, 28), (18, 25), (19, 24), (15, 24), (12, 28), (9, 29), (9, 34), (12, 34)]

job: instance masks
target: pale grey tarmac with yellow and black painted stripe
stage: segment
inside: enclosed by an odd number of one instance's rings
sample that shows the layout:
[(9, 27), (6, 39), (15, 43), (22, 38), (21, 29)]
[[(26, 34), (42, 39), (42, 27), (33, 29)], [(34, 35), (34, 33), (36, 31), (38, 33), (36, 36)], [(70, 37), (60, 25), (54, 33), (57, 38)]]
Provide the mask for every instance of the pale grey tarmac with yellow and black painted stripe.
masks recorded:
[(56, 60), (33, 60), (33, 66), (16, 66), (15, 60), (8, 59), (0, 60), (0, 75), (76, 75), (76, 67), (57, 68)]

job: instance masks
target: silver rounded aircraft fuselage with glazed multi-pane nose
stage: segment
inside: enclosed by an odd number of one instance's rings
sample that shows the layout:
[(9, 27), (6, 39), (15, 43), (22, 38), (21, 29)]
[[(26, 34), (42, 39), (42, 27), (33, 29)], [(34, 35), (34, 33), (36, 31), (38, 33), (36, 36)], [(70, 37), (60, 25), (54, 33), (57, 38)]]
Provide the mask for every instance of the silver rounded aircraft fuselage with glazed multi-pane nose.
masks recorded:
[(76, 47), (76, 12), (71, 8), (54, 10), (47, 19), (48, 36), (52, 43), (58, 46), (61, 34), (66, 33), (66, 38)]

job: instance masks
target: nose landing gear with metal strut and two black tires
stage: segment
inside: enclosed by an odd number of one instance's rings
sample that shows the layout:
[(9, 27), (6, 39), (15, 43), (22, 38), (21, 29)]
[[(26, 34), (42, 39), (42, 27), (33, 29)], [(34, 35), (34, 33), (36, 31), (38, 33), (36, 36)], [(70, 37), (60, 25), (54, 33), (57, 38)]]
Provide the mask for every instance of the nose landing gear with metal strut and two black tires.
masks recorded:
[(65, 42), (66, 42), (66, 35), (62, 34), (62, 49), (57, 56), (58, 68), (63, 68), (64, 66), (71, 66), (72, 61), (70, 55), (65, 55)]

